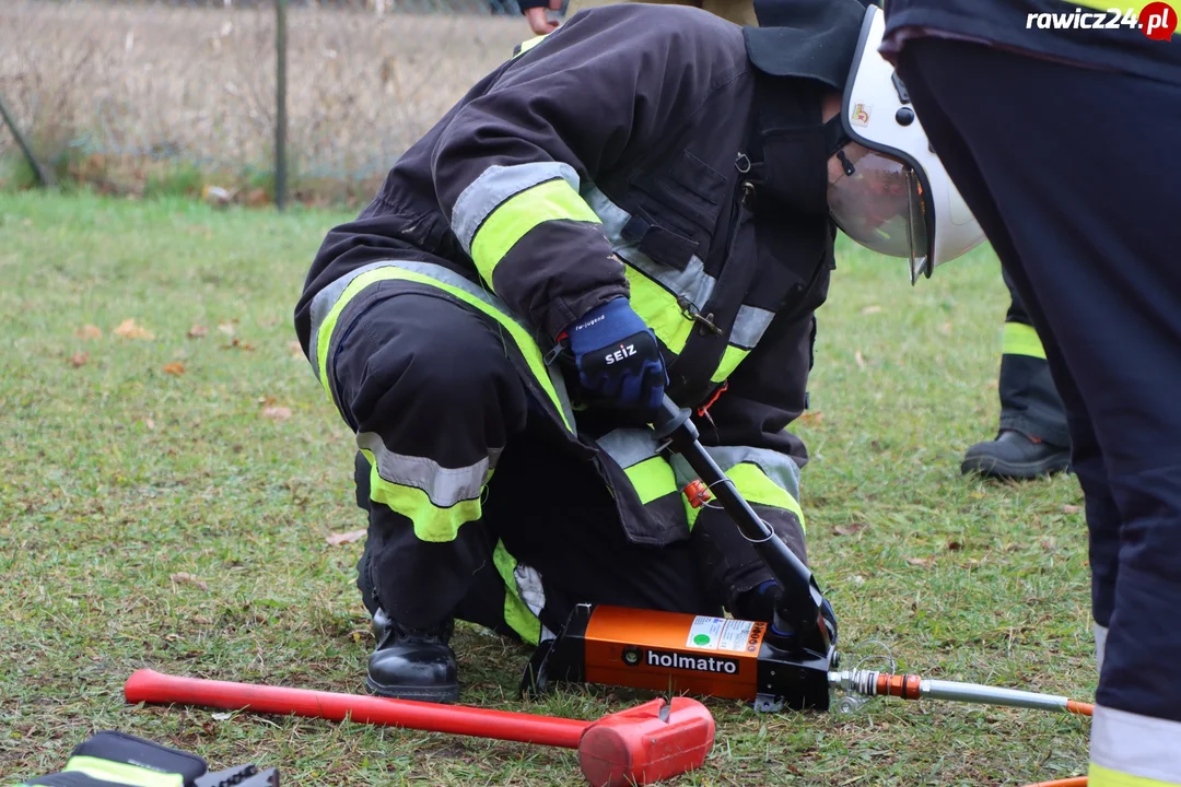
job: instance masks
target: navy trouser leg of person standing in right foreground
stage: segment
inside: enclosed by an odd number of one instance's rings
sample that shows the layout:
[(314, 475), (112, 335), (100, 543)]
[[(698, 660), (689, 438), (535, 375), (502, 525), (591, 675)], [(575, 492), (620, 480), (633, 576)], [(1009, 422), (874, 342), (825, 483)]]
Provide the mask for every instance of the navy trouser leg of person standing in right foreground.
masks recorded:
[(1090, 783), (1181, 783), (1161, 678), (1181, 662), (1181, 88), (935, 39), (899, 73), (1065, 404), (1101, 648)]

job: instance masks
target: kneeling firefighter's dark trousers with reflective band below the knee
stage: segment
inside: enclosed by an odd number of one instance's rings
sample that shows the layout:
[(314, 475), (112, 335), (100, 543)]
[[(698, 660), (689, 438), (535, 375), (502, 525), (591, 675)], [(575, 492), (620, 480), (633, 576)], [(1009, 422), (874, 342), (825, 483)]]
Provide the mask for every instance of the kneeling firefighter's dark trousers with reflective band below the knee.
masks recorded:
[[(380, 605), (412, 628), (455, 616), (530, 644), (583, 601), (722, 614), (692, 542), (626, 539), (608, 487), (537, 406), (501, 326), (422, 284), (379, 288), (372, 304), (340, 315), (351, 326), (338, 324), (329, 365), (342, 414), (370, 452), (357, 473), (370, 512), (358, 585), (371, 611)], [(397, 466), (399, 457), (417, 459)], [(386, 478), (432, 487), (436, 503), (470, 498), (487, 480), (479, 518), (432, 525), (439, 512), (425, 500), (417, 522), (396, 513), (373, 493), (371, 479), (383, 483), (373, 461)]]

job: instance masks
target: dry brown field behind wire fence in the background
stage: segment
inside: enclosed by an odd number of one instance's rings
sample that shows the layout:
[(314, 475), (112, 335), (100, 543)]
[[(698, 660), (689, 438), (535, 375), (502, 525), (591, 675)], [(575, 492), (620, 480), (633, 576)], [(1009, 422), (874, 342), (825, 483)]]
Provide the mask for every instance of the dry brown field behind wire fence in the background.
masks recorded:
[(515, 0), (4, 0), (0, 101), (67, 177), (339, 194), (530, 35)]

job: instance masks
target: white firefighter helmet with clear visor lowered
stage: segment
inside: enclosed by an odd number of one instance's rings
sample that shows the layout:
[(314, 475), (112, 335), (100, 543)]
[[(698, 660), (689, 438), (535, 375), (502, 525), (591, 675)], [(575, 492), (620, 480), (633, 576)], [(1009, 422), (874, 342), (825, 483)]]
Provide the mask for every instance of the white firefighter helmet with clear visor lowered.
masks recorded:
[(870, 4), (834, 129), (839, 143), (857, 144), (836, 153), (844, 173), (829, 186), (828, 202), (850, 238), (909, 258), (913, 284), (979, 245), (984, 231), (932, 150), (906, 86), (877, 52), (885, 27)]

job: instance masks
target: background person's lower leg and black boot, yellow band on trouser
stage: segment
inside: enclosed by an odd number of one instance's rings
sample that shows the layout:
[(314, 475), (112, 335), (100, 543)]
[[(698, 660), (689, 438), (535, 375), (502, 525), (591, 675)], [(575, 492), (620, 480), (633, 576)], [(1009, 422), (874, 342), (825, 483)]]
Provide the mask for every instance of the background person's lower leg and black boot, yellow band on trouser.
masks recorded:
[(1010, 307), (1000, 347), (1000, 429), (967, 450), (960, 470), (991, 478), (1037, 478), (1070, 466), (1066, 412), (1045, 348), (1009, 274)]

